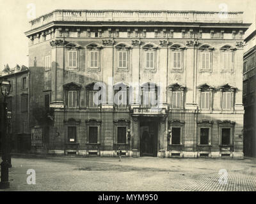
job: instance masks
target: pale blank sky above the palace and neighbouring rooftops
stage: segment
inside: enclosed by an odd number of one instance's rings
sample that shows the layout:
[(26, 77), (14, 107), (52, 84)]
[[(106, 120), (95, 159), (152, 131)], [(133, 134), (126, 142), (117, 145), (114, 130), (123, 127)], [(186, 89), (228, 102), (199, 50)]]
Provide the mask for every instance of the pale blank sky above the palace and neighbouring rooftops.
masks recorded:
[[(8, 63), (28, 66), (29, 4), (35, 5), (36, 17), (55, 9), (122, 10), (207, 10), (244, 11), (244, 22), (255, 22), (256, 0), (0, 0), (0, 69)], [(31, 7), (30, 7), (31, 8)]]

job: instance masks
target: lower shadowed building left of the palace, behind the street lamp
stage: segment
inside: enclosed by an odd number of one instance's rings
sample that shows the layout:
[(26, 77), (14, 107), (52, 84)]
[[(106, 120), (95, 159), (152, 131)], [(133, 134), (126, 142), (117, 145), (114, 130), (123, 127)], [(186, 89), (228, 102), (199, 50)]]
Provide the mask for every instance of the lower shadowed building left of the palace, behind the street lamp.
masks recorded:
[[(29, 152), (31, 149), (31, 133), (29, 129), (29, 69), (17, 65), (13, 69), (4, 69), (3, 78), (10, 80), (10, 94), (6, 98), (10, 125), (10, 140), (13, 152)], [(3, 101), (3, 96), (0, 96)]]

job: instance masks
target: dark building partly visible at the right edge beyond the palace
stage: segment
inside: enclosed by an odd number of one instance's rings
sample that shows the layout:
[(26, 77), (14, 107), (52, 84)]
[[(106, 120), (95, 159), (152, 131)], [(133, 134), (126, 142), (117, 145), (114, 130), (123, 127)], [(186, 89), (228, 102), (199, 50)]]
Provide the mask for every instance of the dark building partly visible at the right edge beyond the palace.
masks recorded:
[[(252, 29), (251, 29), (252, 28)], [(256, 26), (250, 27), (250, 33), (244, 39), (244, 69), (243, 69), (243, 104), (244, 104), (244, 155), (256, 157), (255, 135), (255, 71), (256, 71)]]

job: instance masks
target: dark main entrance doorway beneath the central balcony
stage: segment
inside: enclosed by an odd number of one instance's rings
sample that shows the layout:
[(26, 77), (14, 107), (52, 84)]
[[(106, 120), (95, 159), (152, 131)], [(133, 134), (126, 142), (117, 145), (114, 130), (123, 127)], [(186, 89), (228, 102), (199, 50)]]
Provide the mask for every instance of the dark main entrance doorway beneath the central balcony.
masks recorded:
[(157, 118), (140, 118), (140, 156), (157, 157)]

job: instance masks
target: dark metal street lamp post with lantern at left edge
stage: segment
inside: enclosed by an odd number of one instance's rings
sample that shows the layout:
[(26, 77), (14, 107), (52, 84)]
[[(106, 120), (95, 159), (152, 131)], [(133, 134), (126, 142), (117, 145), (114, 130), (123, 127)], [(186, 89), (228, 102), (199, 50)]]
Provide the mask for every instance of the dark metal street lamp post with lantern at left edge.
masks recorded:
[(6, 133), (6, 128), (8, 126), (7, 122), (7, 103), (6, 97), (10, 93), (11, 83), (10, 81), (3, 79), (0, 82), (1, 93), (3, 94), (4, 102), (3, 102), (3, 122), (2, 123), (2, 163), (1, 163), (1, 182), (0, 182), (0, 189), (7, 189), (10, 187), (9, 182), (9, 166), (8, 163), (8, 138)]

